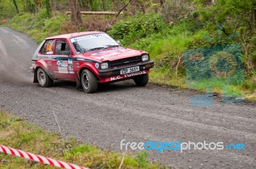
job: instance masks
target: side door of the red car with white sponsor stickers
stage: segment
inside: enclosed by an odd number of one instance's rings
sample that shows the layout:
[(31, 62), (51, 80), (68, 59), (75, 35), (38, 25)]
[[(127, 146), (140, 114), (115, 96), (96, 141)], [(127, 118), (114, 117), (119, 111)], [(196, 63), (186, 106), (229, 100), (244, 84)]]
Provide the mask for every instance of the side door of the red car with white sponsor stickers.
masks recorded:
[(76, 80), (70, 45), (65, 39), (55, 40), (52, 70), (58, 80)]

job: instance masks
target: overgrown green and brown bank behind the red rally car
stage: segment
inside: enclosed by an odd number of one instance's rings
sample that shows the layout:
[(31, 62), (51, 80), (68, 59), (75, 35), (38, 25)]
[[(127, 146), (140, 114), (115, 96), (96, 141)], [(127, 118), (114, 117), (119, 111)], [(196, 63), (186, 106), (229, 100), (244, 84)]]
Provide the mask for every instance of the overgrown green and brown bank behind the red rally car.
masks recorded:
[[(14, 3), (15, 2), (15, 3)], [(23, 3), (26, 2), (26, 3)], [(120, 11), (123, 14), (73, 15), (70, 1), (0, 1), (4, 26), (29, 34), (40, 43), (45, 37), (77, 31), (105, 31), (124, 47), (149, 52), (156, 66), (150, 80), (156, 84), (187, 88), (183, 53), (193, 48), (241, 45), (244, 80), (230, 91), (256, 100), (255, 0), (153, 0), (73, 1), (81, 11)], [(17, 4), (17, 5), (15, 5)], [(17, 10), (18, 9), (18, 10)], [(65, 15), (64, 11), (72, 11)], [(13, 11), (17, 11), (14, 13)], [(19, 12), (18, 12), (19, 11)], [(81, 17), (82, 22), (79, 22)], [(228, 41), (226, 41), (228, 40)], [(207, 80), (196, 87), (206, 91)], [(212, 91), (222, 93), (223, 85)]]

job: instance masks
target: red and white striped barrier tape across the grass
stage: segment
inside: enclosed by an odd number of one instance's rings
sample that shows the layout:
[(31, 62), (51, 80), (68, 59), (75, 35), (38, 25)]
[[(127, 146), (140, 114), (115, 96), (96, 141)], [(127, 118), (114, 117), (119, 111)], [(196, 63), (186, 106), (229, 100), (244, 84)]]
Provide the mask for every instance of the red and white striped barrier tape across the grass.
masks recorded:
[(90, 169), (90, 168), (85, 168), (83, 166), (77, 166), (77, 165), (73, 165), (73, 164), (70, 164), (70, 163), (65, 163), (63, 161), (58, 161), (58, 160), (51, 159), (51, 158), (45, 158), (43, 156), (32, 154), (30, 152), (20, 151), (20, 150), (17, 150), (17, 149), (6, 147), (4, 145), (0, 145), (0, 152), (10, 154), (10, 155), (13, 155), (13, 156), (17, 156), (17, 157), (20, 157), (20, 158), (26, 158), (26, 159), (29, 159), (29, 160), (32, 160), (32, 161), (37, 161), (37, 162), (40, 162), (40, 163), (44, 163), (46, 165), (57, 166), (57, 167), (60, 167), (60, 168)]

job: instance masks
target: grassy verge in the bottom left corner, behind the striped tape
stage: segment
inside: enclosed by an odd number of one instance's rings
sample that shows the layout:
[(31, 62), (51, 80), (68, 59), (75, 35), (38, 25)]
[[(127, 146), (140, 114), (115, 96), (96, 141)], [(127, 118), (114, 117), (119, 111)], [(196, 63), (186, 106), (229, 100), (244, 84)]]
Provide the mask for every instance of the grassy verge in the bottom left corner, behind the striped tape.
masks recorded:
[[(48, 158), (74, 163), (88, 168), (166, 168), (148, 161), (147, 152), (132, 154), (103, 151), (94, 145), (81, 144), (74, 138), (63, 139), (58, 133), (49, 133), (20, 117), (0, 111), (0, 145), (32, 152)], [(17, 158), (0, 152), (0, 168), (56, 168)]]

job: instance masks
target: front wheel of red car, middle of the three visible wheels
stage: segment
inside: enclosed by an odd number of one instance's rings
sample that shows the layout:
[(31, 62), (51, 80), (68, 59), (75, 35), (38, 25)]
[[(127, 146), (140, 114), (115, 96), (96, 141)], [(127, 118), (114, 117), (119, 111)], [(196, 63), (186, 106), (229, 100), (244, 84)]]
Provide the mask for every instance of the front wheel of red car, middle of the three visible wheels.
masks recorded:
[(83, 89), (87, 93), (96, 92), (98, 88), (98, 82), (95, 75), (90, 70), (83, 70), (81, 74), (81, 84)]

